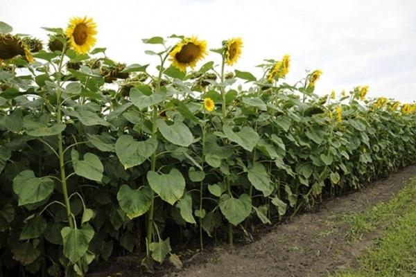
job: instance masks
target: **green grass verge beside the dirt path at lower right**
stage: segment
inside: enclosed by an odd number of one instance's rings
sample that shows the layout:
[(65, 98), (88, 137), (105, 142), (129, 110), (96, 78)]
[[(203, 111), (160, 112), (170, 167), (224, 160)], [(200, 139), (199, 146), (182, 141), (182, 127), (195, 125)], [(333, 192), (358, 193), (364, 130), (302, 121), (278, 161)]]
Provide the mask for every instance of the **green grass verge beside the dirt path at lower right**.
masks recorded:
[[(337, 277), (380, 277), (380, 276), (416, 276), (416, 180), (389, 202), (384, 204), (388, 208), (379, 207), (375, 211), (382, 211), (381, 216), (390, 217), (390, 225), (381, 238), (376, 240), (374, 247), (361, 257), (360, 267), (356, 270), (339, 273)], [(408, 197), (412, 197), (407, 201)], [(401, 203), (401, 204), (400, 204)], [(392, 210), (396, 208), (396, 210)], [(376, 212), (371, 209), (368, 215)], [(396, 216), (394, 216), (396, 214)], [(367, 217), (374, 221), (373, 217)], [(379, 220), (376, 220), (379, 221)], [(363, 228), (368, 228), (357, 220)], [(379, 221), (380, 222), (380, 221)]]

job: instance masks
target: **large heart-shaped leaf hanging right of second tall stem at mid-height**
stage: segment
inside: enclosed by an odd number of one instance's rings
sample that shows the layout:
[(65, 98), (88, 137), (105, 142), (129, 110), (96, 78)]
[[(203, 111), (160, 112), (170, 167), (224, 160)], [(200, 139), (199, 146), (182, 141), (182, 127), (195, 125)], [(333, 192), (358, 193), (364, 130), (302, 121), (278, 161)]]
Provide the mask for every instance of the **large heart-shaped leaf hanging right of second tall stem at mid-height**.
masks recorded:
[(185, 179), (182, 173), (176, 168), (172, 168), (168, 174), (159, 174), (154, 171), (148, 171), (147, 179), (157, 195), (164, 201), (173, 205), (184, 195)]

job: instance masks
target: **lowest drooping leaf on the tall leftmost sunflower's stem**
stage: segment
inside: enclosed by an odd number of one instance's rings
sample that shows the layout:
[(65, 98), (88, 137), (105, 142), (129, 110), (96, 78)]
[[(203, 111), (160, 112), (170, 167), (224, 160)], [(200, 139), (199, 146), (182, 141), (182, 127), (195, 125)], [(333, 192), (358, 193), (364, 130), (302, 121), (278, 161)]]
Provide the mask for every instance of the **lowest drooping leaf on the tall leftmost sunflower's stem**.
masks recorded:
[(64, 256), (75, 264), (87, 253), (89, 242), (94, 237), (94, 229), (89, 225), (84, 225), (81, 229), (64, 227), (61, 235), (64, 241)]

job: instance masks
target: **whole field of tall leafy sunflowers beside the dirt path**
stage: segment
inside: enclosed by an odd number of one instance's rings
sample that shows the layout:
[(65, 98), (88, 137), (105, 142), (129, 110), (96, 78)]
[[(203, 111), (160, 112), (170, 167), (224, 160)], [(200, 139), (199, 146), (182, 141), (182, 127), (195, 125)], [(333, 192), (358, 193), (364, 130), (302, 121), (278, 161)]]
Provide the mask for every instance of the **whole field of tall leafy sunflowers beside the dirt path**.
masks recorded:
[(153, 66), (126, 65), (94, 48), (92, 19), (44, 30), (0, 22), (0, 276), (180, 265), (185, 241), (232, 244), (415, 162), (415, 104), (318, 96), (320, 70), (287, 84), (289, 55), (256, 77), (229, 69), (240, 38), (172, 35), (143, 39)]

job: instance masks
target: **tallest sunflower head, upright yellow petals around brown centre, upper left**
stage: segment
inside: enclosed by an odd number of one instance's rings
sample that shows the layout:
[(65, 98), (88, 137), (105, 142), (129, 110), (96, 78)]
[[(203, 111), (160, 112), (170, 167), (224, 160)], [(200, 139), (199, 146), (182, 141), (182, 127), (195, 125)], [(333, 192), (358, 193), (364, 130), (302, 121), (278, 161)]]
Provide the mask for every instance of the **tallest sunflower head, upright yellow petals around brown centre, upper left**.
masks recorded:
[(96, 28), (92, 18), (73, 17), (67, 28), (67, 36), (72, 48), (80, 54), (88, 53), (97, 40)]

